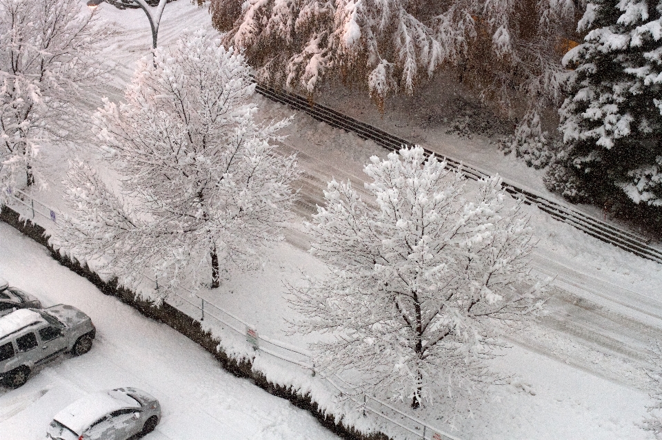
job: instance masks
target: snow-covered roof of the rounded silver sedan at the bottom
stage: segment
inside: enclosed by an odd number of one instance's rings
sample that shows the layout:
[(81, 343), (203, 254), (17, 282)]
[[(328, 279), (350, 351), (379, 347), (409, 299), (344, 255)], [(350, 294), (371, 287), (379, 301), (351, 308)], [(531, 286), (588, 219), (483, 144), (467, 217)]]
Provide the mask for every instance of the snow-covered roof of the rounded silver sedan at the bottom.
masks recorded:
[(140, 404), (121, 391), (100, 391), (74, 401), (53, 419), (81, 434), (101, 417), (123, 408), (140, 408)]

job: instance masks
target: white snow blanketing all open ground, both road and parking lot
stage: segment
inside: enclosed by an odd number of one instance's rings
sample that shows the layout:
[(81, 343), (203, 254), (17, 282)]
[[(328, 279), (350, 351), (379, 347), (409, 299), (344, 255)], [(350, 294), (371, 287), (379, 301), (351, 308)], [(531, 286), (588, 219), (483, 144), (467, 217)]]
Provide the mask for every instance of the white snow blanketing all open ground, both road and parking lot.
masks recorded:
[[(119, 11), (108, 5), (99, 9), (118, 29), (108, 43), (108, 59), (128, 67), (120, 70), (115, 80), (118, 94), (111, 98), (118, 99), (134, 61), (150, 47), (150, 30), (140, 10)], [(186, 1), (169, 3), (161, 21), (159, 44), (168, 44), (181, 32), (201, 26), (210, 27), (205, 8)], [(426, 104), (441, 106), (443, 102), (434, 100), (452, 99), (455, 92), (447, 89), (430, 94)], [(541, 183), (542, 171), (504, 157), (487, 139), (458, 139), (445, 134), (443, 127), (417, 126), (416, 116), (425, 108), (407, 99), (389, 107), (384, 118), (360, 93), (337, 93), (329, 101), (343, 112), (419, 141), (439, 154), (498, 171), (521, 187), (554, 198)], [(256, 101), (267, 120), (293, 113), (259, 96)], [(374, 143), (299, 113), (286, 131), (290, 136), (283, 149), (299, 151), (307, 174), (308, 180), (302, 183), (302, 205), (308, 208), (321, 203), (321, 189), (330, 176), (350, 178), (354, 187), (360, 188), (366, 179), (361, 172), (363, 164), (373, 154), (387, 154)], [(61, 151), (52, 150), (50, 159), (50, 189), (37, 197), (63, 209), (59, 182), (66, 158)], [(306, 185), (312, 185), (320, 197), (315, 198)], [(582, 209), (601, 216), (594, 208)], [(523, 335), (511, 337), (514, 346), (494, 362), (494, 368), (512, 375), (510, 384), (495, 388), (485, 404), (456, 422), (457, 430), (452, 433), (465, 440), (653, 439), (636, 423), (645, 414), (645, 405), (651, 403), (645, 349), (650, 339), (662, 337), (662, 265), (590, 238), (533, 207), (530, 214), (539, 238), (535, 269), (541, 275), (556, 276), (556, 288), (548, 302), (550, 314)], [(221, 288), (203, 290), (200, 295), (251, 322), (261, 335), (303, 348), (312, 337), (288, 335), (283, 318), (292, 315), (283, 283), (297, 282), (301, 271), (314, 274), (325, 269), (305, 253), (308, 238), (298, 224), (292, 224), (286, 236), (287, 242), (267, 251), (262, 271), (230, 271)], [(20, 390), (0, 395), (2, 440), (4, 435), (7, 439), (31, 439), (45, 430), (56, 407), (63, 408), (92, 390), (127, 385), (146, 389), (161, 401), (163, 422), (149, 438), (332, 438), (311, 417), (223, 372), (210, 355), (188, 339), (104, 297), (91, 284), (52, 262), (42, 247), (2, 224), (0, 245), (8, 249), (0, 254), (0, 276), (37, 295), (45, 305), (50, 305), (50, 300), (81, 308), (99, 328), (96, 345), (88, 355), (49, 364)], [(36, 276), (41, 273), (48, 276)], [(239, 353), (243, 348), (237, 350)], [(279, 384), (324, 392), (301, 370), (267, 357), (258, 357), (255, 366)], [(328, 396), (316, 397), (333, 405)], [(417, 417), (425, 414), (417, 413)], [(429, 417), (429, 421), (439, 428), (451, 428), (443, 419)]]

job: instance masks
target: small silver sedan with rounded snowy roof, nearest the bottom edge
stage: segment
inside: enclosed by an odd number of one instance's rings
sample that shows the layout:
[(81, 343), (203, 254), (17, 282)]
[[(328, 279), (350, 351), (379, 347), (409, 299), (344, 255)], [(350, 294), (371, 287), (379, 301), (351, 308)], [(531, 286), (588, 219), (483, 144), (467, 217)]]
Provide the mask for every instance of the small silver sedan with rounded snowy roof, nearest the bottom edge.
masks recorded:
[(74, 401), (50, 422), (49, 440), (126, 440), (154, 430), (161, 406), (147, 392), (117, 388)]

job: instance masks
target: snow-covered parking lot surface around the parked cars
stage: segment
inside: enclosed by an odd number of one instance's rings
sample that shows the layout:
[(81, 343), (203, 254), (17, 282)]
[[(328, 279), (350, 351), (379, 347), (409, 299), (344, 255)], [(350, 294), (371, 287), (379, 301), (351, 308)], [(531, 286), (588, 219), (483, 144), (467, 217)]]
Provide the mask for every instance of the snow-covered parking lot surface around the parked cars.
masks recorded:
[(120, 386), (161, 401), (163, 419), (146, 439), (337, 439), (308, 412), (225, 372), (190, 339), (103, 295), (4, 223), (0, 247), (0, 277), (46, 306), (80, 308), (97, 326), (90, 353), (47, 364), (17, 390), (0, 388), (0, 439), (43, 439), (56, 412), (87, 392)]

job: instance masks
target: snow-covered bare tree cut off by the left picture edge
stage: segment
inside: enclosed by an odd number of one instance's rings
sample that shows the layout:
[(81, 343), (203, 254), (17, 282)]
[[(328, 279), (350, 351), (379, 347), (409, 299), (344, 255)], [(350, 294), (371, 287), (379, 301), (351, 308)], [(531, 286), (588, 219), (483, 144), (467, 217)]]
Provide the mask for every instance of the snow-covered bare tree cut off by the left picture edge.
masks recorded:
[(77, 0), (0, 0), (0, 203), (35, 182), (39, 149), (81, 138), (81, 107), (104, 82), (94, 43), (106, 32)]

